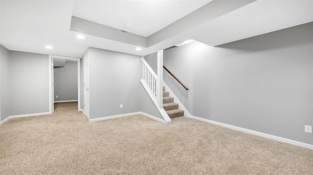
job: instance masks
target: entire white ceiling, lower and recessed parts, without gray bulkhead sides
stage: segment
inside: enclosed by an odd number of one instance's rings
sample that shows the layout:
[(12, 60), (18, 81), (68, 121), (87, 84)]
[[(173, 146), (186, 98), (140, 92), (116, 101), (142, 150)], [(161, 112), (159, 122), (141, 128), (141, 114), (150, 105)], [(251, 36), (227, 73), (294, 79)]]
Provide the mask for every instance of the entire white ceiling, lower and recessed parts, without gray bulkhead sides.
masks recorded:
[(88, 47), (147, 55), (187, 39), (215, 46), (313, 21), (312, 0), (258, 0), (141, 51), (136, 45), (86, 34), (80, 40), (69, 30), (73, 15), (147, 37), (210, 1), (1, 0), (0, 43), (10, 50), (78, 58)]

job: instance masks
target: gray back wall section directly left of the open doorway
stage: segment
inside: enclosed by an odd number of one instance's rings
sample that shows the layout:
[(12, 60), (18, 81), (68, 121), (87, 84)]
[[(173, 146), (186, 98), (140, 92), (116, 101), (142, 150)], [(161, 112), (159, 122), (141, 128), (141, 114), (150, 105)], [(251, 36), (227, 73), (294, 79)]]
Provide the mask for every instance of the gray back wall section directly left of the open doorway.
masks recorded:
[(10, 51), (10, 115), (49, 111), (48, 55)]

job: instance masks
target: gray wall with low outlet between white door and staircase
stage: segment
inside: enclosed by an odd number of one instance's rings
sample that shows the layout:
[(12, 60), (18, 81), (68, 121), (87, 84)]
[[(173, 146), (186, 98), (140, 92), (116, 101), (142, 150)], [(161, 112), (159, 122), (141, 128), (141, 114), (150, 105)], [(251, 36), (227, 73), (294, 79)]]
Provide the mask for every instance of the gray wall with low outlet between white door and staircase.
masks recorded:
[(140, 111), (140, 57), (97, 48), (89, 56), (90, 119)]

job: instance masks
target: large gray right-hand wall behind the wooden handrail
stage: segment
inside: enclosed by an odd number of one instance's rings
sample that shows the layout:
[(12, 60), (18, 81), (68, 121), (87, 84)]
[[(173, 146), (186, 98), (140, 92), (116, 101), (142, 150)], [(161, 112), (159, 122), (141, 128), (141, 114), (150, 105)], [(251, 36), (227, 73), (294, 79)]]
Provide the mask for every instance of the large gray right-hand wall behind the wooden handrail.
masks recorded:
[(210, 47), (164, 52), (165, 83), (191, 115), (313, 144), (313, 22)]

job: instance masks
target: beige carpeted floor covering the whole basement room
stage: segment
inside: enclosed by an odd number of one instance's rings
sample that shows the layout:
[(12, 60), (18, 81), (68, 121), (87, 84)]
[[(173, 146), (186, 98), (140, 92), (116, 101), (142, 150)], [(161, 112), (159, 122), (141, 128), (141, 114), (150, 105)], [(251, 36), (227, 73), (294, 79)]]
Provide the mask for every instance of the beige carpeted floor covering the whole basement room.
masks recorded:
[(89, 123), (58, 103), (0, 130), (0, 175), (313, 175), (313, 150), (186, 117)]

